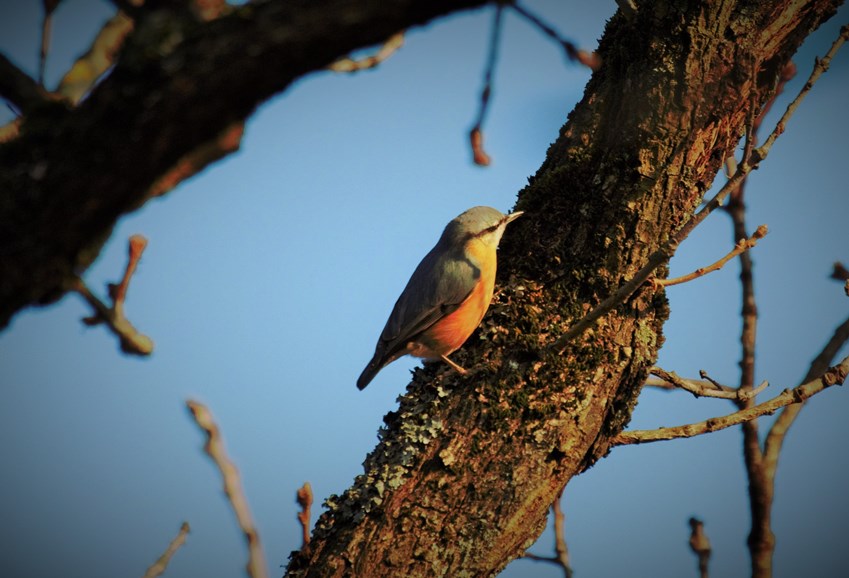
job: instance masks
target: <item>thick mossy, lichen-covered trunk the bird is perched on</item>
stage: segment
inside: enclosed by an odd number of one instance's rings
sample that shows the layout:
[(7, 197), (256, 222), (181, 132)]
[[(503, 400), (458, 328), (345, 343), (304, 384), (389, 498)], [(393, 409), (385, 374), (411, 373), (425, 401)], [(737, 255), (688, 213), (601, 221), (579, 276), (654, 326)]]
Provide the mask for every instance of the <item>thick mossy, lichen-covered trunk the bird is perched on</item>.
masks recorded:
[(601, 69), (519, 194), (500, 293), (453, 356), (471, 375), (415, 373), (288, 576), (495, 575), (628, 422), (663, 295), (645, 287), (564, 352), (552, 342), (691, 218), (751, 106), (839, 2), (639, 4), (609, 22)]

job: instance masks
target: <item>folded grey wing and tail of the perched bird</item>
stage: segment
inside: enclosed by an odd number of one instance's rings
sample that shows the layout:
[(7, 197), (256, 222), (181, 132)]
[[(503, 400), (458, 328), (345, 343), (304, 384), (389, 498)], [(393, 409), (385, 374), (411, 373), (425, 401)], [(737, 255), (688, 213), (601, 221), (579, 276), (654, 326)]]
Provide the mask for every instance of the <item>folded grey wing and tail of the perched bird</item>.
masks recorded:
[(456, 310), (480, 278), (480, 269), (465, 256), (452, 254), (438, 244), (428, 253), (395, 302), (377, 341), (374, 357), (357, 386), (363, 389), (380, 369), (398, 357), (408, 342)]

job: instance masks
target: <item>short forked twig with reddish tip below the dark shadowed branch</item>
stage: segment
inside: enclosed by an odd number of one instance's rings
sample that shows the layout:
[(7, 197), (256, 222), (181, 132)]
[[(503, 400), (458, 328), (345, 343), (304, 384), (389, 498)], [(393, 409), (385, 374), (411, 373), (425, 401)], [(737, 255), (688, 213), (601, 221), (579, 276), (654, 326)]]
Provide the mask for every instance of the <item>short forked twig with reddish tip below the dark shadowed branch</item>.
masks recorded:
[(124, 315), (124, 301), (127, 298), (130, 279), (146, 246), (147, 239), (143, 236), (133, 235), (130, 237), (129, 258), (127, 259), (127, 268), (124, 270), (124, 277), (117, 285), (109, 283), (107, 286), (109, 296), (112, 299), (111, 306), (106, 305), (95, 296), (79, 277), (72, 279), (69, 287), (70, 290), (79, 293), (94, 309), (94, 315), (83, 318), (83, 323), (89, 326), (105, 323), (112, 330), (112, 333), (118, 336), (121, 350), (124, 353), (134, 355), (150, 355), (153, 352), (153, 340), (147, 335), (139, 333)]

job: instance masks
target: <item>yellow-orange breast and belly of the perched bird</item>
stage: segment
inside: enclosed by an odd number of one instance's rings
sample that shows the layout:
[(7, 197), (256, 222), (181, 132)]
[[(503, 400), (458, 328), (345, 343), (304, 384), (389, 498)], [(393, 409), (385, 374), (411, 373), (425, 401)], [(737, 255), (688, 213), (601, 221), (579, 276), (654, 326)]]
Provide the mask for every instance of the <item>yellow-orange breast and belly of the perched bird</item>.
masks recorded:
[[(480, 246), (478, 246), (480, 245)], [(421, 350), (412, 352), (419, 357), (439, 357), (460, 348), (475, 331), (492, 301), (495, 287), (495, 250), (472, 241), (467, 253), (479, 263), (481, 274), (475, 288), (460, 306), (434, 323), (417, 340)]]

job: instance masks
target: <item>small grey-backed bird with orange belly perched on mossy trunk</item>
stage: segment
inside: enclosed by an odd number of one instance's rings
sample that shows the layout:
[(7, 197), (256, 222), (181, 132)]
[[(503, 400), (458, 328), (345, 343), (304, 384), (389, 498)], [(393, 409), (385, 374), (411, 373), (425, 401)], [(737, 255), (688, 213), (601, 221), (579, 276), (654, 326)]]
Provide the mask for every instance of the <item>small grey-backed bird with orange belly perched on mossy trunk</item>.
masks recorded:
[(395, 302), (374, 356), (357, 380), (359, 389), (404, 355), (441, 359), (466, 373), (448, 355), (463, 345), (489, 308), (498, 243), (507, 225), (522, 214), (472, 207), (446, 225)]

